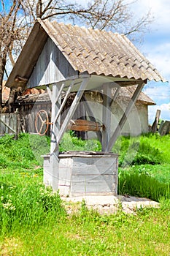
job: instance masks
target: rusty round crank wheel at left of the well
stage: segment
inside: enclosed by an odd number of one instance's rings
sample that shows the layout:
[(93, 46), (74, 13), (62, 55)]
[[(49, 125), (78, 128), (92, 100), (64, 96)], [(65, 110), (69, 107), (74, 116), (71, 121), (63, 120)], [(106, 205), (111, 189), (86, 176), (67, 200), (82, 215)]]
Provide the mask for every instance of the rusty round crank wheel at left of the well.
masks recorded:
[[(40, 127), (39, 127), (40, 124)], [(45, 110), (39, 110), (38, 113), (36, 113), (36, 118), (35, 118), (35, 127), (36, 127), (36, 132), (40, 135), (43, 136), (48, 130), (49, 127), (49, 118), (48, 114)]]

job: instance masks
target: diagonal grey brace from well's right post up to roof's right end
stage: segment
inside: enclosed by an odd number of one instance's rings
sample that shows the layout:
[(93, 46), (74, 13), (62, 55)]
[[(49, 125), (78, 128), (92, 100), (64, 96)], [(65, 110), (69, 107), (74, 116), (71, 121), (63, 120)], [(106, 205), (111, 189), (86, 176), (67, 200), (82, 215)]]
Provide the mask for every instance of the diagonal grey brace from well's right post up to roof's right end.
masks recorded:
[(128, 107), (125, 110), (125, 113), (123, 114), (122, 118), (120, 119), (119, 124), (117, 125), (117, 127), (115, 129), (115, 132), (113, 133), (112, 137), (109, 140), (109, 143), (105, 150), (106, 152), (109, 152), (112, 150), (112, 147), (114, 146), (118, 136), (120, 135), (120, 132), (123, 129), (123, 125), (125, 124), (125, 121), (127, 120), (129, 113), (131, 112), (132, 108), (134, 107), (136, 99), (139, 97), (139, 94), (141, 93), (144, 84), (145, 83), (140, 83), (137, 86), (136, 91), (134, 92), (134, 94), (131, 98), (131, 101), (128, 104)]

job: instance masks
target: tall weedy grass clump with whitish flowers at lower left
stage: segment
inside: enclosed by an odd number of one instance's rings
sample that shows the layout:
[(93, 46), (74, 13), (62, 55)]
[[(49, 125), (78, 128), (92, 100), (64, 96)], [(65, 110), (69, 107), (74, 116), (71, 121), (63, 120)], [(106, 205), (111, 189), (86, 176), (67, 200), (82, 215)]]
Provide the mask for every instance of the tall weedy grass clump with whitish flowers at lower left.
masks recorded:
[(0, 174), (1, 233), (34, 228), (51, 219), (58, 221), (64, 214), (58, 193), (45, 188), (36, 174), (18, 171)]

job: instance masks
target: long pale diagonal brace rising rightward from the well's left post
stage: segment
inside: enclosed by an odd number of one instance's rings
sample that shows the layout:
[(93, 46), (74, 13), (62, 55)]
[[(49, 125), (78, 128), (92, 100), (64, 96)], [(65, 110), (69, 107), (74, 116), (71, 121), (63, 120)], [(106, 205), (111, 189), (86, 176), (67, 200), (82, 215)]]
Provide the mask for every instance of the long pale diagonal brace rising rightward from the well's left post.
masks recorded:
[(63, 124), (61, 125), (61, 129), (60, 129), (57, 139), (56, 139), (56, 146), (54, 148), (54, 151), (57, 150), (59, 143), (61, 142), (61, 138), (63, 138), (63, 134), (64, 134), (64, 132), (66, 132), (69, 121), (71, 120), (72, 116), (74, 115), (75, 110), (77, 109), (77, 105), (79, 104), (80, 99), (82, 98), (82, 94), (84, 93), (86, 86), (88, 85), (89, 79), (90, 78), (84, 78), (82, 80), (80, 89), (77, 91), (77, 94), (74, 97), (74, 101), (72, 102), (72, 105), (70, 106), (69, 111), (66, 114), (66, 118), (64, 119)]

